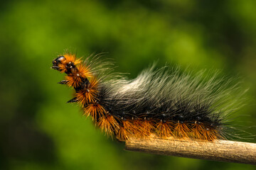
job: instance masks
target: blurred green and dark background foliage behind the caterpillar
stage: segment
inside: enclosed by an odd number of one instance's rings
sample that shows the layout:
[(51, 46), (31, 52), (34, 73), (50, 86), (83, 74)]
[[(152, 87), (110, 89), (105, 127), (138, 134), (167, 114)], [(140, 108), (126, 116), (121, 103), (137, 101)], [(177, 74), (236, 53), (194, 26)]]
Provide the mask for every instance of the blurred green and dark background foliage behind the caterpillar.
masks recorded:
[(0, 169), (255, 169), (124, 151), (66, 103), (73, 90), (50, 69), (67, 48), (107, 52), (130, 78), (154, 61), (221, 69), (249, 88), (235, 114), (254, 135), (255, 9), (254, 0), (1, 1)]

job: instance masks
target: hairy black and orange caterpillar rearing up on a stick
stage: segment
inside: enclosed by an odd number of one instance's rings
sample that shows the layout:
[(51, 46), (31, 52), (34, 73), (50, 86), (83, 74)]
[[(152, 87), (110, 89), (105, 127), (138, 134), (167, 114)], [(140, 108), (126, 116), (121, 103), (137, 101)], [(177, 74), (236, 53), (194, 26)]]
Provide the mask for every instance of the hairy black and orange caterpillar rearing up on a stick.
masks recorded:
[(75, 89), (68, 103), (78, 103), (102, 132), (118, 140), (154, 135), (213, 141), (230, 134), (228, 118), (237, 109), (231, 94), (238, 86), (230, 87), (230, 79), (218, 74), (192, 76), (153, 64), (130, 80), (100, 55), (82, 61), (70, 52), (53, 60), (52, 68), (66, 74), (59, 84)]

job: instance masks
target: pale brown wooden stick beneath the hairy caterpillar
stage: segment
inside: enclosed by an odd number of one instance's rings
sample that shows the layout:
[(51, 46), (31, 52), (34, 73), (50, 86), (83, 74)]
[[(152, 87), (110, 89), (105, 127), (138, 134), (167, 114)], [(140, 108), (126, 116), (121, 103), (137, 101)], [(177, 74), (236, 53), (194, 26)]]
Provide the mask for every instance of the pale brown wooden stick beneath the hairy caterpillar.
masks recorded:
[(220, 162), (256, 164), (256, 144), (218, 140), (214, 142), (193, 140), (164, 140), (159, 138), (129, 139), (125, 149), (150, 154), (209, 159)]

